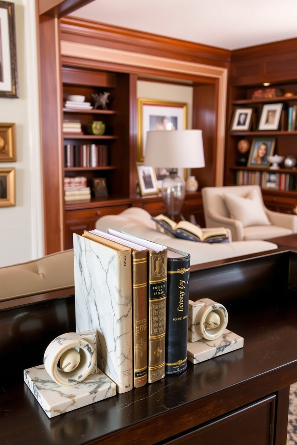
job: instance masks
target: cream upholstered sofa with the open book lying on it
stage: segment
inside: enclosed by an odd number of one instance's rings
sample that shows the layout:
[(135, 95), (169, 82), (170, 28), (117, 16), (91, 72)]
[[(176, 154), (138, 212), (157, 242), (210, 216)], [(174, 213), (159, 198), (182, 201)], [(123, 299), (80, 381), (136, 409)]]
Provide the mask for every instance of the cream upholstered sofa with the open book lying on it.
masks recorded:
[(163, 229), (151, 219), (151, 215), (138, 207), (131, 207), (118, 215), (102, 216), (95, 226), (96, 229), (104, 232), (108, 229), (125, 231), (130, 235), (188, 252), (191, 255), (191, 265), (277, 248), (274, 243), (260, 240), (207, 244), (178, 239), (169, 233), (164, 233)]

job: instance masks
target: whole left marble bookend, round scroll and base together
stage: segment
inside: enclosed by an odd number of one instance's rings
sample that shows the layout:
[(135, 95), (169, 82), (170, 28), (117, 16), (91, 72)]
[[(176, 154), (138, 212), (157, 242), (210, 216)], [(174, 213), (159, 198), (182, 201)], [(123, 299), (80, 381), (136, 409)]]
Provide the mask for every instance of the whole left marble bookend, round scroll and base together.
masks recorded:
[(116, 394), (115, 383), (96, 366), (93, 331), (55, 338), (45, 350), (44, 364), (24, 370), (24, 381), (48, 417)]

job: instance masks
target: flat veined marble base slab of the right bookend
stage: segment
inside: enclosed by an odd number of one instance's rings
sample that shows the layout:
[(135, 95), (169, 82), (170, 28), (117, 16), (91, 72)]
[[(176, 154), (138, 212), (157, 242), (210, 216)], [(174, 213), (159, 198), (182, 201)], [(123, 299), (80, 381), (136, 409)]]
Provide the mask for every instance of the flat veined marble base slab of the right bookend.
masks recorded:
[(216, 340), (201, 339), (187, 344), (187, 359), (196, 364), (243, 348), (244, 339), (228, 329)]

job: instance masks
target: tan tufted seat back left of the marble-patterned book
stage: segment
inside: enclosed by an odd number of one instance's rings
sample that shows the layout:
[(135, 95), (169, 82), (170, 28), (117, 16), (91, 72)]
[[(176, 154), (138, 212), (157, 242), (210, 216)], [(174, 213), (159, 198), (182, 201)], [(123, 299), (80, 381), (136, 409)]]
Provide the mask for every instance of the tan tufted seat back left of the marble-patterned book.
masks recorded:
[(73, 249), (0, 267), (0, 301), (73, 286)]

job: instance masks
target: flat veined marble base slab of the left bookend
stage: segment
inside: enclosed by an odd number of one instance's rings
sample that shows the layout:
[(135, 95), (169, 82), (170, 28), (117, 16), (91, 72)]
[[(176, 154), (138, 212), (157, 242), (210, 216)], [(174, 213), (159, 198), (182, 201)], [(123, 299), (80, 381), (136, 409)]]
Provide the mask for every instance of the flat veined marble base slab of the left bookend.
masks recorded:
[(116, 395), (116, 385), (99, 368), (80, 383), (61, 386), (53, 381), (44, 365), (24, 370), (24, 381), (48, 417), (90, 405)]

